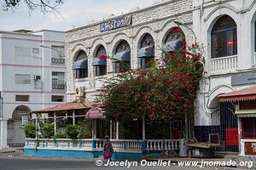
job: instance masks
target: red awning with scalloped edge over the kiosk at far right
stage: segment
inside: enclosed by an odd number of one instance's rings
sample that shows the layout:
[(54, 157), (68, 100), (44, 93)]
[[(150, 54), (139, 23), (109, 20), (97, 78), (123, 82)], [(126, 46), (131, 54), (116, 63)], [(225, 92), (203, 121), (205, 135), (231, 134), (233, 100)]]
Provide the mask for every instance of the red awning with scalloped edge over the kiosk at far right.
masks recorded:
[(218, 95), (220, 102), (247, 101), (256, 99), (256, 87)]

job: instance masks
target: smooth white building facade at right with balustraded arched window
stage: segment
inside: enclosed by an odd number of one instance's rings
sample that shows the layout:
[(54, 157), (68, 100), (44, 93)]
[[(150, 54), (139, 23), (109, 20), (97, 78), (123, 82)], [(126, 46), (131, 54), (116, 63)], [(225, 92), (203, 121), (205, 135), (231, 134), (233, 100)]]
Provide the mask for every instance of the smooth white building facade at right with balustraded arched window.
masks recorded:
[[(197, 99), (195, 136), (206, 142), (209, 133), (218, 133), (222, 151), (238, 152), (241, 132), (236, 116), (239, 101), (220, 102), (219, 95), (255, 86), (255, 3), (193, 1), (193, 28), (198, 42), (205, 45), (206, 58)], [(248, 123), (256, 122), (251, 119)]]

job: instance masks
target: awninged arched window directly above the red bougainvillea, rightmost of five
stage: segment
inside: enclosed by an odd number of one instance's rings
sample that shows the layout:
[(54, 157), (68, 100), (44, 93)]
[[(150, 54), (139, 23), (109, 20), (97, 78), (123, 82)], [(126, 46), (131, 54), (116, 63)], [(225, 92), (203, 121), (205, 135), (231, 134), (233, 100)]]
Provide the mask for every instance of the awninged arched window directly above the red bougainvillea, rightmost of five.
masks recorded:
[(178, 48), (183, 47), (185, 36), (183, 31), (178, 27), (172, 28), (164, 40), (163, 50), (166, 52), (176, 51)]

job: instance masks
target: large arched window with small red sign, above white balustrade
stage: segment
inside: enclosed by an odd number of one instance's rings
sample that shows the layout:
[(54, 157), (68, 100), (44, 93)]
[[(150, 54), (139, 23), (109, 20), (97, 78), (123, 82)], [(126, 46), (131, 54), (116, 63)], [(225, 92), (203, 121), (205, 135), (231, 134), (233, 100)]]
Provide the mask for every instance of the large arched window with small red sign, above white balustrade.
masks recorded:
[(237, 54), (236, 22), (228, 15), (212, 28), (212, 59)]

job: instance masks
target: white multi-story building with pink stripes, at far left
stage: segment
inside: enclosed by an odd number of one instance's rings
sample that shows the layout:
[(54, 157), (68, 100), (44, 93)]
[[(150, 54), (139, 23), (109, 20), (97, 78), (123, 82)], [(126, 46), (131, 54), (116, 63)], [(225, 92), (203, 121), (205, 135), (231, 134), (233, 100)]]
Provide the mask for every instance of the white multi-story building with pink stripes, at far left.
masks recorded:
[(1, 144), (24, 144), (27, 113), (66, 101), (64, 32), (0, 31)]

